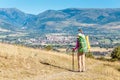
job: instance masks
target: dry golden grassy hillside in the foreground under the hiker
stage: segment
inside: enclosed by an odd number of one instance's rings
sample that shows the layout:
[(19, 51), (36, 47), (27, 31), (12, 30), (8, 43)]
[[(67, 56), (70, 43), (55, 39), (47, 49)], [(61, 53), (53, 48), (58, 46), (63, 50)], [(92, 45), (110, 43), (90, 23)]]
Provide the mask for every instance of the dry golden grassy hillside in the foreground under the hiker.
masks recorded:
[(81, 73), (71, 64), (70, 55), (0, 43), (0, 80), (120, 80), (120, 62), (87, 58)]

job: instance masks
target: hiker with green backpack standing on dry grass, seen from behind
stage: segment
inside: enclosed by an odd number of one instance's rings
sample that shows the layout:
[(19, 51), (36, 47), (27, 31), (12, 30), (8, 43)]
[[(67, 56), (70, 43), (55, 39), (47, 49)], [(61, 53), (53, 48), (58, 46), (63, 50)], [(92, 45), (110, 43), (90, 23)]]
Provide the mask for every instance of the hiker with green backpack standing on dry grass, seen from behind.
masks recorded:
[(85, 71), (85, 52), (87, 51), (85, 35), (81, 29), (78, 30), (76, 46), (73, 48), (73, 51), (78, 50), (77, 59), (78, 59), (78, 71)]

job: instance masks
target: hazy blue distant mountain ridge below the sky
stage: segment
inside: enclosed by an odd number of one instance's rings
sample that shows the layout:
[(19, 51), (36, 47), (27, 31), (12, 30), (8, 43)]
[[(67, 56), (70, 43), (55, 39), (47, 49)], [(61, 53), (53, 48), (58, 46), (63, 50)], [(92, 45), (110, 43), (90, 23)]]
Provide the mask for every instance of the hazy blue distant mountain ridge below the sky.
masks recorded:
[(120, 22), (120, 8), (68, 8), (47, 10), (38, 15), (26, 14), (16, 8), (0, 8), (0, 27), (10, 30), (23, 27), (26, 30), (62, 30), (68, 27), (105, 25), (111, 22)]

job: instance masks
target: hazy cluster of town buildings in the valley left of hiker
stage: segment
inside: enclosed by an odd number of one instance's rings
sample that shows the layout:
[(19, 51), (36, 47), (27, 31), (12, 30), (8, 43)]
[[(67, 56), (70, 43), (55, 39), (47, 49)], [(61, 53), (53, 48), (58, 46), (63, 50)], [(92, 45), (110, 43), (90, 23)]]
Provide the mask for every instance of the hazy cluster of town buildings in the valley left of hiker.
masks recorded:
[(76, 38), (72, 35), (53, 33), (36, 39), (31, 38), (29, 40), (26, 40), (25, 42), (40, 45), (74, 45), (76, 42)]

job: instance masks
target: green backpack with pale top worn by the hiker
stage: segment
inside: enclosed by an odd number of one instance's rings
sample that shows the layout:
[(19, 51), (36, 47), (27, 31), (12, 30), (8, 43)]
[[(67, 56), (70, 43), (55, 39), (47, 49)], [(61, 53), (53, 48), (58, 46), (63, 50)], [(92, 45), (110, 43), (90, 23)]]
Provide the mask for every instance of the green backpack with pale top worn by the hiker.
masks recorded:
[(88, 52), (85, 35), (80, 34), (78, 36), (79, 36), (78, 37), (78, 42), (79, 42), (78, 52), (80, 52), (80, 53)]

